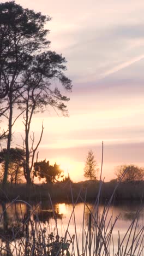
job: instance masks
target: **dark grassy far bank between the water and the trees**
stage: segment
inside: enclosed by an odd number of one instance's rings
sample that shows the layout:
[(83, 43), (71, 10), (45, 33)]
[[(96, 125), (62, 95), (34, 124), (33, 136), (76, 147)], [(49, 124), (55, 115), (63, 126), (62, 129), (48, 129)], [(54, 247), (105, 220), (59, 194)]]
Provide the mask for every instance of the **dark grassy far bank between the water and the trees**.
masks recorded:
[[(117, 187), (117, 183), (106, 182), (101, 187), (100, 200), (109, 200), (113, 190)], [(94, 200), (99, 191), (99, 182), (97, 181), (86, 181), (79, 183), (71, 183), (71, 189), (73, 190), (74, 199), (77, 195), (85, 197), (86, 201)], [(115, 191), (115, 202), (121, 200), (143, 200), (144, 193), (144, 182), (134, 183), (120, 183)], [(56, 183), (56, 184), (34, 184), (27, 187), (26, 184), (10, 185), (7, 184), (5, 191), (0, 187), (0, 198), (2, 201), (14, 200), (17, 196), (20, 199), (26, 201), (33, 200), (47, 200), (49, 194), (52, 201), (70, 201), (71, 202), (71, 190), (70, 184), (68, 183)]]

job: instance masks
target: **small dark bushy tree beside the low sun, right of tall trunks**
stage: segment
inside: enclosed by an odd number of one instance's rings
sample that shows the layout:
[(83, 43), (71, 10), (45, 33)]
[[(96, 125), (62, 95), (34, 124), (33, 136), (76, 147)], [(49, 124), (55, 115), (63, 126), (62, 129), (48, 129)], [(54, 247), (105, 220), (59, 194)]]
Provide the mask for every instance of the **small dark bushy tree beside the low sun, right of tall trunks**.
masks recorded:
[(34, 163), (34, 176), (45, 178), (46, 183), (55, 182), (61, 176), (63, 170), (56, 163), (52, 166), (46, 160)]

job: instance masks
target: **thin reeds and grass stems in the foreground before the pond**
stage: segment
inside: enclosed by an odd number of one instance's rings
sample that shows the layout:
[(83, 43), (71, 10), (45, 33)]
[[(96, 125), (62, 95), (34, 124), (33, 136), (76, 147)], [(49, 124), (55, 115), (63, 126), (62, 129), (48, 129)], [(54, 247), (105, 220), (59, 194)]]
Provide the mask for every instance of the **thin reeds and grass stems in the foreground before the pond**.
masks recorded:
[[(5, 223), (5, 214), (7, 214), (8, 208), (3, 208), (3, 213), (0, 218), (1, 226), (4, 225), (3, 232), (0, 232), (0, 255), (142, 255), (144, 226), (139, 226), (139, 215), (141, 210), (136, 212), (135, 218), (131, 221), (131, 224), (124, 236), (121, 236), (121, 230), (117, 231), (117, 244), (115, 244), (113, 241), (113, 229), (115, 228), (119, 216), (113, 219), (112, 215), (108, 217), (108, 213), (121, 181), (116, 184), (110, 199), (105, 202), (103, 211), (100, 212), (100, 200), (101, 193), (103, 191), (103, 184), (103, 181), (100, 181), (94, 206), (93, 208), (90, 208), (87, 203), (87, 189), (84, 196), (83, 191), (80, 190), (74, 200), (73, 187), (70, 183), (69, 188), (71, 201), (73, 203), (73, 210), (71, 211), (67, 229), (63, 236), (60, 235), (61, 230), (58, 230), (57, 216), (52, 206), (50, 194), (48, 194), (48, 197), (53, 211), (53, 219), (55, 220), (55, 224), (53, 226), (47, 225), (44, 227), (41, 224), (38, 217), (39, 204), (33, 208), (31, 204), (26, 201), (22, 201), (19, 198), (10, 202), (8, 207), (13, 205), (15, 202), (25, 203), (27, 205), (27, 213), (25, 216), (21, 216), (22, 221), (19, 228), (16, 229), (13, 226), (10, 231), (7, 223)], [(79, 200), (83, 202), (81, 234), (77, 231), (75, 210), (76, 203)], [(88, 215), (88, 222), (85, 222), (86, 214)], [(72, 219), (74, 228), (73, 233), (71, 234), (69, 227)], [(81, 243), (79, 243), (79, 236), (81, 236), (82, 239)]]

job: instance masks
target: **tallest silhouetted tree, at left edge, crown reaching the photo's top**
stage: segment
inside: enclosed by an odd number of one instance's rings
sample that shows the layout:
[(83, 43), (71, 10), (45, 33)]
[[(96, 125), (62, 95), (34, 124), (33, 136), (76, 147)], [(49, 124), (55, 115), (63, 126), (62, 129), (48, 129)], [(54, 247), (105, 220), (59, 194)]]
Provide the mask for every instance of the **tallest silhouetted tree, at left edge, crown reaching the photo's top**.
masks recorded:
[[(35, 51), (49, 44), (44, 23), (49, 17), (23, 9), (14, 1), (0, 4), (0, 91), (4, 100), (2, 112), (8, 110), (7, 161), (3, 185), (7, 182), (10, 143), (13, 127), (13, 107), (23, 92), (23, 73), (26, 72)], [(5, 97), (4, 97), (5, 96)]]

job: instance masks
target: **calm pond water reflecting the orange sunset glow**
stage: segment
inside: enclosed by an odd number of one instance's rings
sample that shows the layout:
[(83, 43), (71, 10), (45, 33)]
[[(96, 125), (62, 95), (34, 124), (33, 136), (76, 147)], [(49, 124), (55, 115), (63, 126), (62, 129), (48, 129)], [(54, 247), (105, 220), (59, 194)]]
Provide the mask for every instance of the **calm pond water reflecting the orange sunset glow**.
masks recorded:
[[(136, 202), (121, 202), (109, 207), (82, 202), (76, 205), (52, 205), (50, 201), (29, 205), (20, 200), (1, 203), (1, 242), (2, 245), (6, 243), (7, 249), (16, 247), (17, 241), (25, 240), (26, 229), (31, 232), (32, 223), (36, 221), (45, 234), (53, 234), (54, 237), (57, 234), (64, 237), (68, 230), (67, 240), (74, 242), (73, 255), (142, 255), (143, 210), (143, 206)], [(17, 255), (15, 250), (12, 255)]]

